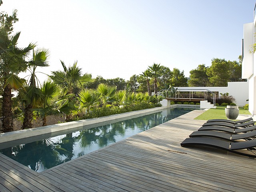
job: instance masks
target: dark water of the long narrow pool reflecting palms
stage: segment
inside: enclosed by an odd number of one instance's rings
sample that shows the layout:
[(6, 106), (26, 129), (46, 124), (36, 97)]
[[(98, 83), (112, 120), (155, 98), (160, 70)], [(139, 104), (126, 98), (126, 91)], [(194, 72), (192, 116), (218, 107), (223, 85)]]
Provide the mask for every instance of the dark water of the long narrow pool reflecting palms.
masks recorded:
[(42, 172), (148, 130), (192, 110), (194, 109), (169, 108), (162, 112), (129, 120), (117, 120), (117, 122), (103, 126), (81, 129), (35, 142), (19, 144), (1, 149), (0, 152), (36, 172)]

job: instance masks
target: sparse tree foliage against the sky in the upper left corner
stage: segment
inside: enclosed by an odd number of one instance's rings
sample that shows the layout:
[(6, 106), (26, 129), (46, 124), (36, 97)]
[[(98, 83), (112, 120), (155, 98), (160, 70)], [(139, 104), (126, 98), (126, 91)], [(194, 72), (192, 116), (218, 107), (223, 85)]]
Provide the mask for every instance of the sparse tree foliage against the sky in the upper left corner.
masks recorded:
[[(0, 6), (3, 4), (3, 1), (0, 0)], [(4, 11), (0, 12), (0, 27), (4, 27), (8, 34), (12, 33), (13, 24), (16, 23), (19, 19), (17, 18), (17, 10), (14, 9), (11, 16)]]

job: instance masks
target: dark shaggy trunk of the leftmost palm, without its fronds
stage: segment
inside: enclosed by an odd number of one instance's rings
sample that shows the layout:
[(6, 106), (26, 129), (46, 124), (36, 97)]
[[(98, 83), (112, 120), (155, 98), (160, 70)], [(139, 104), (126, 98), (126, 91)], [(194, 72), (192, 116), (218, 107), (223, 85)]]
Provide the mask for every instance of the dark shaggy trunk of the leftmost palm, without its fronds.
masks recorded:
[(3, 94), (3, 123), (2, 131), (10, 132), (13, 131), (13, 121), (12, 121), (12, 89), (10, 85), (4, 88)]

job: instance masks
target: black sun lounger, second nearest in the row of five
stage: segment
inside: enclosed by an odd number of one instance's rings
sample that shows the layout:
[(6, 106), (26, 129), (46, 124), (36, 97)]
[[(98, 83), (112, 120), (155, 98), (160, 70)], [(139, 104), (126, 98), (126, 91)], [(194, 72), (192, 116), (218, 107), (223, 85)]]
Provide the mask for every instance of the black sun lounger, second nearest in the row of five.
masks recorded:
[(189, 137), (210, 137), (210, 138), (218, 138), (222, 140), (227, 140), (227, 141), (232, 141), (232, 142), (237, 142), (236, 140), (240, 139), (252, 139), (255, 138), (256, 136), (256, 130), (250, 131), (247, 133), (242, 133), (242, 134), (228, 134), (224, 132), (219, 132), (219, 131), (195, 131), (190, 134)]

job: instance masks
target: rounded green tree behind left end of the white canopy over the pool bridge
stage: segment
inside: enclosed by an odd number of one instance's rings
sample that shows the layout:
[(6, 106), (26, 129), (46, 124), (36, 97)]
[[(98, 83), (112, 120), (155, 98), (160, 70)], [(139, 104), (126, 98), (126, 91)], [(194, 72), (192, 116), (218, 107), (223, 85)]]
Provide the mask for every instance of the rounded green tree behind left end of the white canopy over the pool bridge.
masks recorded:
[(173, 68), (172, 78), (170, 79), (170, 84), (174, 87), (186, 87), (188, 86), (187, 78), (184, 76), (184, 71), (180, 71), (177, 68)]

